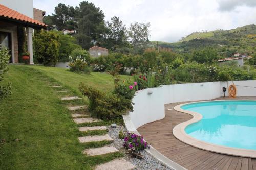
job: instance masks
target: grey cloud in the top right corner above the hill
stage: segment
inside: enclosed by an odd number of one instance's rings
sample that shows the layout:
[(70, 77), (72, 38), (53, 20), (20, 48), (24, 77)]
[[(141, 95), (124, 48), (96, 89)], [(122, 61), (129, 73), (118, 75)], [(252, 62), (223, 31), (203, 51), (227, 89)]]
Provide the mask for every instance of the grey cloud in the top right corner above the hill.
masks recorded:
[(255, 0), (218, 0), (220, 11), (232, 11), (238, 6), (255, 7)]

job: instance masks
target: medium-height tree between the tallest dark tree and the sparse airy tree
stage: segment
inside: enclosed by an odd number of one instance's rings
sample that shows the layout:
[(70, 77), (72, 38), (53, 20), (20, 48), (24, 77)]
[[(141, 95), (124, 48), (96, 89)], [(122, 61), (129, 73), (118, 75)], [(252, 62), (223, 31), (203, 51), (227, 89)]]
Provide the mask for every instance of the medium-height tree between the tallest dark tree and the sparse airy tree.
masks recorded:
[(106, 34), (106, 47), (112, 50), (126, 45), (127, 37), (125, 35), (125, 25), (119, 17), (114, 16), (111, 22), (107, 22), (108, 33)]

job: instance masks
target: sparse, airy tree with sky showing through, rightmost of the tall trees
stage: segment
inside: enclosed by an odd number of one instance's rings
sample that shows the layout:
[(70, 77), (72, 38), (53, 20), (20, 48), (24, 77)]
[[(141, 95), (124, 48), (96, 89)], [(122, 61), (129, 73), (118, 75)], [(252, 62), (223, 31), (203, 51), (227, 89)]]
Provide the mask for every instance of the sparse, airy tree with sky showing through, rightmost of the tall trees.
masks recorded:
[(138, 23), (135, 22), (131, 24), (130, 28), (127, 30), (127, 34), (130, 43), (134, 48), (144, 47), (150, 36), (150, 23)]

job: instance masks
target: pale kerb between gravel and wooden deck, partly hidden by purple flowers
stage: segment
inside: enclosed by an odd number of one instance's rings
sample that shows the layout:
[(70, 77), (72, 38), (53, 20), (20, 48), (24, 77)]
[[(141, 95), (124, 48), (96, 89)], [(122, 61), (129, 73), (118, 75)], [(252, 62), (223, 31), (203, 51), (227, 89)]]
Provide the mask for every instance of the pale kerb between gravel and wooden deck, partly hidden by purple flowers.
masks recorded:
[[(129, 113), (127, 113), (126, 115), (123, 115), (123, 121), (124, 121), (124, 125), (125, 125), (128, 132), (140, 135), (139, 132), (137, 131), (137, 129), (135, 128)], [(176, 169), (176, 170), (186, 170), (186, 168), (184, 168), (181, 165), (179, 165), (179, 164), (175, 163), (174, 161), (170, 160), (169, 158), (167, 158), (166, 156), (164, 156), (163, 154), (158, 152), (151, 145), (149, 145), (149, 146), (150, 146), (149, 149), (145, 149), (146, 152), (151, 154), (154, 158), (156, 158), (159, 162), (161, 162), (165, 166), (167, 166), (171, 169)]]

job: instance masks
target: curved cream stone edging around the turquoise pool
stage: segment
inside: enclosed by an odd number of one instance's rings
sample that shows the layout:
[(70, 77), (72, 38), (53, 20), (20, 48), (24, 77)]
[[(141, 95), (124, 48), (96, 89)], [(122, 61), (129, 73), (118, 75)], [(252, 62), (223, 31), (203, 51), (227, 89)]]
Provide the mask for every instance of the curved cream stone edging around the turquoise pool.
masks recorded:
[[(234, 100), (218, 100), (218, 101), (234, 101)], [(235, 100), (235, 101), (256, 101), (256, 100)], [(185, 132), (185, 128), (188, 125), (199, 122), (203, 118), (203, 116), (197, 112), (183, 110), (183, 109), (181, 109), (181, 106), (187, 105), (187, 104), (193, 104), (193, 103), (204, 103), (204, 102), (212, 102), (212, 101), (191, 102), (191, 103), (177, 105), (174, 107), (174, 110), (176, 110), (178, 112), (190, 114), (193, 116), (193, 118), (186, 122), (176, 125), (173, 128), (173, 135), (180, 141), (182, 141), (186, 144), (192, 145), (193, 147), (203, 149), (203, 150), (217, 152), (217, 153), (221, 153), (221, 154), (233, 155), (233, 156), (256, 158), (256, 150), (231, 148), (231, 147), (225, 147), (225, 146), (221, 146), (221, 145), (211, 144), (208, 142), (198, 140), (194, 137), (191, 137)]]

